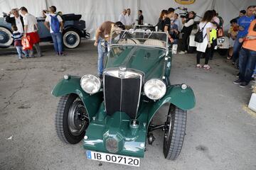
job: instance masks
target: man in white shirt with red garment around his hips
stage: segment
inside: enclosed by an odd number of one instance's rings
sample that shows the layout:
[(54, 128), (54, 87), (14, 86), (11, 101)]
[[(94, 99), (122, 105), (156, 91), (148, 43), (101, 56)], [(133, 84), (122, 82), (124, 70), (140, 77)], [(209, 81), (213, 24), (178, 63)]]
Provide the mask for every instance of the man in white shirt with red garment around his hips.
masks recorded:
[[(24, 23), (24, 37), (26, 37), (27, 35), (30, 36), (30, 44), (31, 44), (31, 50), (29, 50), (30, 52), (30, 57), (35, 57), (33, 55), (33, 45), (36, 46), (36, 52), (38, 54), (38, 57), (42, 57), (42, 52), (39, 46), (39, 35), (37, 33), (38, 31), (38, 26), (37, 26), (37, 21), (36, 21), (36, 17), (31, 15), (30, 13), (28, 13), (27, 8), (25, 8), (24, 6), (22, 6), (20, 8), (21, 14), (23, 15), (23, 23)], [(36, 29), (35, 29), (36, 28)]]

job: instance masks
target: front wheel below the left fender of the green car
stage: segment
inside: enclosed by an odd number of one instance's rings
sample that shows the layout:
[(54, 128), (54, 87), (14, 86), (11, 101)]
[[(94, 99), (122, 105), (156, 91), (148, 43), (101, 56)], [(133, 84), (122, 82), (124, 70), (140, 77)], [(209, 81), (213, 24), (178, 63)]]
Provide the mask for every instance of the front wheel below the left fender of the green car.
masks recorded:
[(75, 94), (62, 96), (55, 115), (55, 129), (65, 143), (77, 144), (85, 136), (89, 116), (84, 104)]

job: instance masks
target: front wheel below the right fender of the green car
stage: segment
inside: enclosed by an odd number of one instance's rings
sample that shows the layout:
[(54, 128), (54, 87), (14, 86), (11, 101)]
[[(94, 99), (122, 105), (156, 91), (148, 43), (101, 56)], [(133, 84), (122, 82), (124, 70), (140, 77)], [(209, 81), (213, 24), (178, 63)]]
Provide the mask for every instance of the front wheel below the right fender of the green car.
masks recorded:
[(164, 157), (175, 160), (181, 152), (186, 131), (186, 111), (170, 105), (164, 130)]

